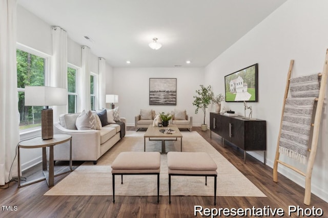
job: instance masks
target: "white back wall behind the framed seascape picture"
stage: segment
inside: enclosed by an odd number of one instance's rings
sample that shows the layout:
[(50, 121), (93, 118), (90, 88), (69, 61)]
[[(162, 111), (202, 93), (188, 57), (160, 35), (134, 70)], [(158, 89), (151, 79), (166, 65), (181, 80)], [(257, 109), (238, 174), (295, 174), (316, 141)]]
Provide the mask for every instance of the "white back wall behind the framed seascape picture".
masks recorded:
[[(177, 78), (176, 106), (149, 105), (149, 78)], [(203, 68), (114, 68), (113, 81), (120, 116), (127, 118), (128, 125), (134, 126), (134, 117), (140, 108), (152, 108), (156, 114), (171, 112), (174, 108), (186, 109), (193, 116), (194, 124), (202, 122), (202, 115), (194, 114), (192, 102), (195, 90), (203, 83)]]

